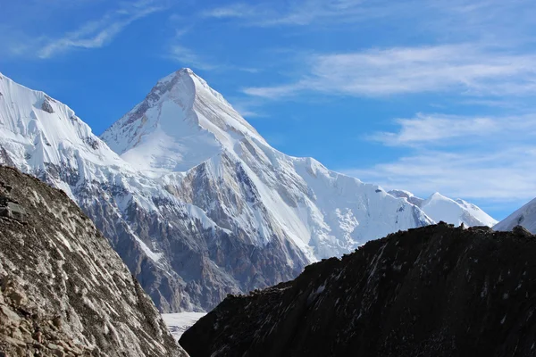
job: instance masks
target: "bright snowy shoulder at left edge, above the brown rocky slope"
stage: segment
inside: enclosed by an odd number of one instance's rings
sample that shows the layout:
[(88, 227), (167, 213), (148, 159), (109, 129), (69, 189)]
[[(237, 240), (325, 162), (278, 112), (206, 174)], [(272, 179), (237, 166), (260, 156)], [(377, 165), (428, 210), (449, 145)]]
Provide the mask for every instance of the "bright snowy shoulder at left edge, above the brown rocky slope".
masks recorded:
[(104, 142), (67, 105), (43, 92), (0, 75), (0, 146), (21, 170), (45, 170), (47, 164), (76, 169), (87, 165), (124, 166)]

